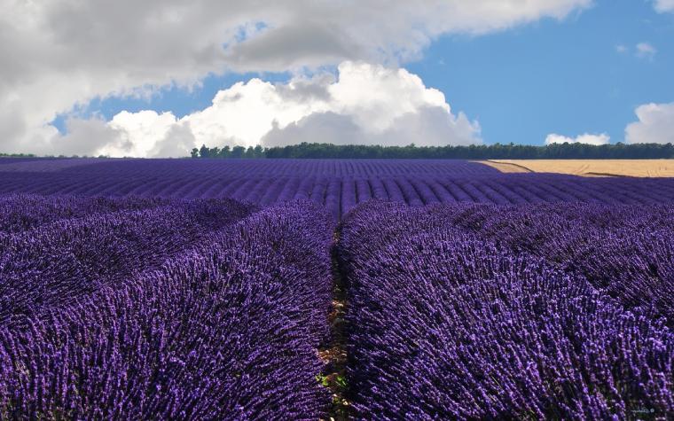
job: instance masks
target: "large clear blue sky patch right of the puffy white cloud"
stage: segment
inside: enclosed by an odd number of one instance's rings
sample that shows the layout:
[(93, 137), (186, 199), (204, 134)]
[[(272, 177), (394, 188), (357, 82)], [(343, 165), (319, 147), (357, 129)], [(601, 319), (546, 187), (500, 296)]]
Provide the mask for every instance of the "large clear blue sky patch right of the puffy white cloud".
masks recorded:
[[(652, 59), (637, 57), (639, 43), (654, 46)], [(542, 144), (553, 132), (619, 142), (637, 106), (674, 101), (674, 17), (602, 1), (562, 23), (443, 36), (407, 68), (477, 118), (488, 142)]]

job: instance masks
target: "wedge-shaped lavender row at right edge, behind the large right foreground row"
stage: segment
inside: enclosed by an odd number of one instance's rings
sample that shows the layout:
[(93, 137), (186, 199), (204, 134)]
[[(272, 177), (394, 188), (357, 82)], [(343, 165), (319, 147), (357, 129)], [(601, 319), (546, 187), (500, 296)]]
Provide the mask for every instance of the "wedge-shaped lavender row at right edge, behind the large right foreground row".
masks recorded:
[(460, 227), (536, 254), (621, 301), (674, 323), (674, 207), (559, 204), (436, 207)]

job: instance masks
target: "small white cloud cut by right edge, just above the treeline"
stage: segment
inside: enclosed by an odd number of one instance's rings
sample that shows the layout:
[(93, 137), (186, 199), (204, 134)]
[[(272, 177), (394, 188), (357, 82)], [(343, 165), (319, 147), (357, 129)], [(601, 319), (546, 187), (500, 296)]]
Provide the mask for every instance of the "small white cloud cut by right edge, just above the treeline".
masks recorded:
[(639, 121), (625, 129), (628, 144), (674, 143), (674, 103), (640, 105), (636, 113)]

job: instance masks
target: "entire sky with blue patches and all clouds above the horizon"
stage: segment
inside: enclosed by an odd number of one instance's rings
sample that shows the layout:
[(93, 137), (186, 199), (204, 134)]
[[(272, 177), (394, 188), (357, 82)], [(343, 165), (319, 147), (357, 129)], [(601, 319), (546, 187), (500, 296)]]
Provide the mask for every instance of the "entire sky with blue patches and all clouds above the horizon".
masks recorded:
[(0, 152), (674, 142), (674, 0), (0, 6)]

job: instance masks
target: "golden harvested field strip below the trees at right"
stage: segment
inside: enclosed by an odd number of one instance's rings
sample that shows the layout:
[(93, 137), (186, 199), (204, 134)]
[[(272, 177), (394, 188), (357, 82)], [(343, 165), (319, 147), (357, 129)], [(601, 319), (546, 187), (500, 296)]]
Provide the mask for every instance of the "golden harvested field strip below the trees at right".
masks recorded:
[(674, 160), (482, 160), (503, 173), (674, 177)]

